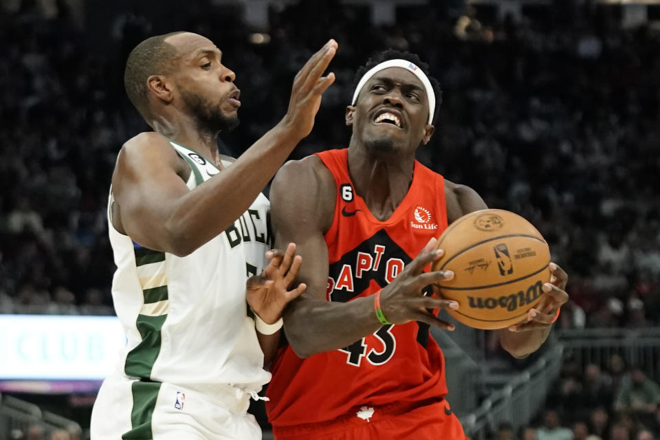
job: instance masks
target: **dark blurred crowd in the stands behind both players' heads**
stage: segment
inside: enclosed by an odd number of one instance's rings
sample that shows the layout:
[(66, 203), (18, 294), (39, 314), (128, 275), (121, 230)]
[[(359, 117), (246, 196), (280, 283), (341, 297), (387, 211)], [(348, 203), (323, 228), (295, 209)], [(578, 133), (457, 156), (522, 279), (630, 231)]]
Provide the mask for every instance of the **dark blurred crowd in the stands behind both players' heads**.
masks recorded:
[(560, 325), (660, 322), (657, 30), (621, 29), (589, 1), (492, 23), (431, 2), (378, 27), (366, 7), (335, 3), (272, 8), (267, 34), (241, 25), (238, 8), (203, 2), (158, 21), (118, 10), (101, 43), (63, 0), (47, 16), (30, 0), (4, 11), (0, 313), (113, 313), (109, 182), (122, 143), (146, 129), (125, 98), (123, 63), (144, 37), (187, 29), (217, 42), (243, 89), (242, 124), (219, 145), (232, 155), (281, 118), (294, 74), (329, 36), (340, 43), (338, 79), (294, 159), (347, 145), (343, 109), (369, 55), (420, 54), (444, 102), (419, 159), (544, 234), (571, 277)]

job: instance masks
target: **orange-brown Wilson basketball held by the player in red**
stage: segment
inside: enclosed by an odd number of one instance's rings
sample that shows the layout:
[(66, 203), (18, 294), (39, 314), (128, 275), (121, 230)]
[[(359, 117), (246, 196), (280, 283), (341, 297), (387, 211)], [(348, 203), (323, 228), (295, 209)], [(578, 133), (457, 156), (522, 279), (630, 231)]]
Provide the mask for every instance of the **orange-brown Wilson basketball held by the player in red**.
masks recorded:
[(441, 296), (459, 303), (458, 310), (447, 311), (476, 329), (503, 329), (524, 320), (550, 281), (548, 244), (514, 212), (470, 212), (443, 232), (437, 248), (445, 254), (432, 270), (454, 272), (438, 286)]

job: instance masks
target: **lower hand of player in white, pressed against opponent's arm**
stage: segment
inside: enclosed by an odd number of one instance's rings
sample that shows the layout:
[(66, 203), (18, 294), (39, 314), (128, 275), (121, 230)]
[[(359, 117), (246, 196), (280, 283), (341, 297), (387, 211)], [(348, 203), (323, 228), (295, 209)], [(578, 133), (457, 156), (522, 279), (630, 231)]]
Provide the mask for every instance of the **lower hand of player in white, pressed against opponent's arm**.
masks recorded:
[(245, 295), (254, 313), (266, 324), (272, 324), (281, 318), (289, 302), (305, 292), (307, 285), (301, 283), (289, 290), (303, 263), (303, 257), (296, 255), (294, 243), (289, 243), (286, 252), (272, 249), (266, 256), (270, 263), (261, 275), (248, 278)]

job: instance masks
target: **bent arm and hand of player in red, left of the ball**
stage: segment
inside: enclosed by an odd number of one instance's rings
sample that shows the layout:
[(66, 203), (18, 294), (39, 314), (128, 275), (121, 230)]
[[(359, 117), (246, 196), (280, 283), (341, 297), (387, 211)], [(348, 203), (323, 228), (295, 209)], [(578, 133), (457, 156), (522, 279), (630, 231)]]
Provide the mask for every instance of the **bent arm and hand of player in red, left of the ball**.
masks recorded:
[[(307, 285), (305, 293), (293, 300), (284, 312), (284, 329), (292, 349), (300, 357), (347, 347), (377, 331), (373, 296), (350, 303), (332, 303), (326, 298), (329, 256), (324, 234), (330, 228), (335, 209), (334, 179), (316, 156), (289, 162), (276, 175), (270, 190), (272, 225), (276, 247), (296, 243), (305, 262), (298, 281)], [(382, 309), (393, 324), (411, 320), (447, 329), (448, 323), (426, 309), (440, 309), (453, 301), (423, 296), (422, 289), (450, 276), (445, 272), (422, 273), (423, 267), (441, 252), (430, 243), (395, 281), (382, 290)]]

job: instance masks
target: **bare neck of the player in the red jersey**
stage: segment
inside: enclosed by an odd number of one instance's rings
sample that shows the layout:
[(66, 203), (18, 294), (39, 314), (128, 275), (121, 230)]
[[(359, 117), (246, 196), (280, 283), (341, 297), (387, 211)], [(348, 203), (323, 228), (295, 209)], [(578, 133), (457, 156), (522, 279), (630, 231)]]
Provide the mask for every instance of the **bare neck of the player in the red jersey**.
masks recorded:
[(349, 148), (348, 160), (355, 192), (374, 217), (388, 219), (408, 193), (415, 157), (373, 155), (365, 148)]

